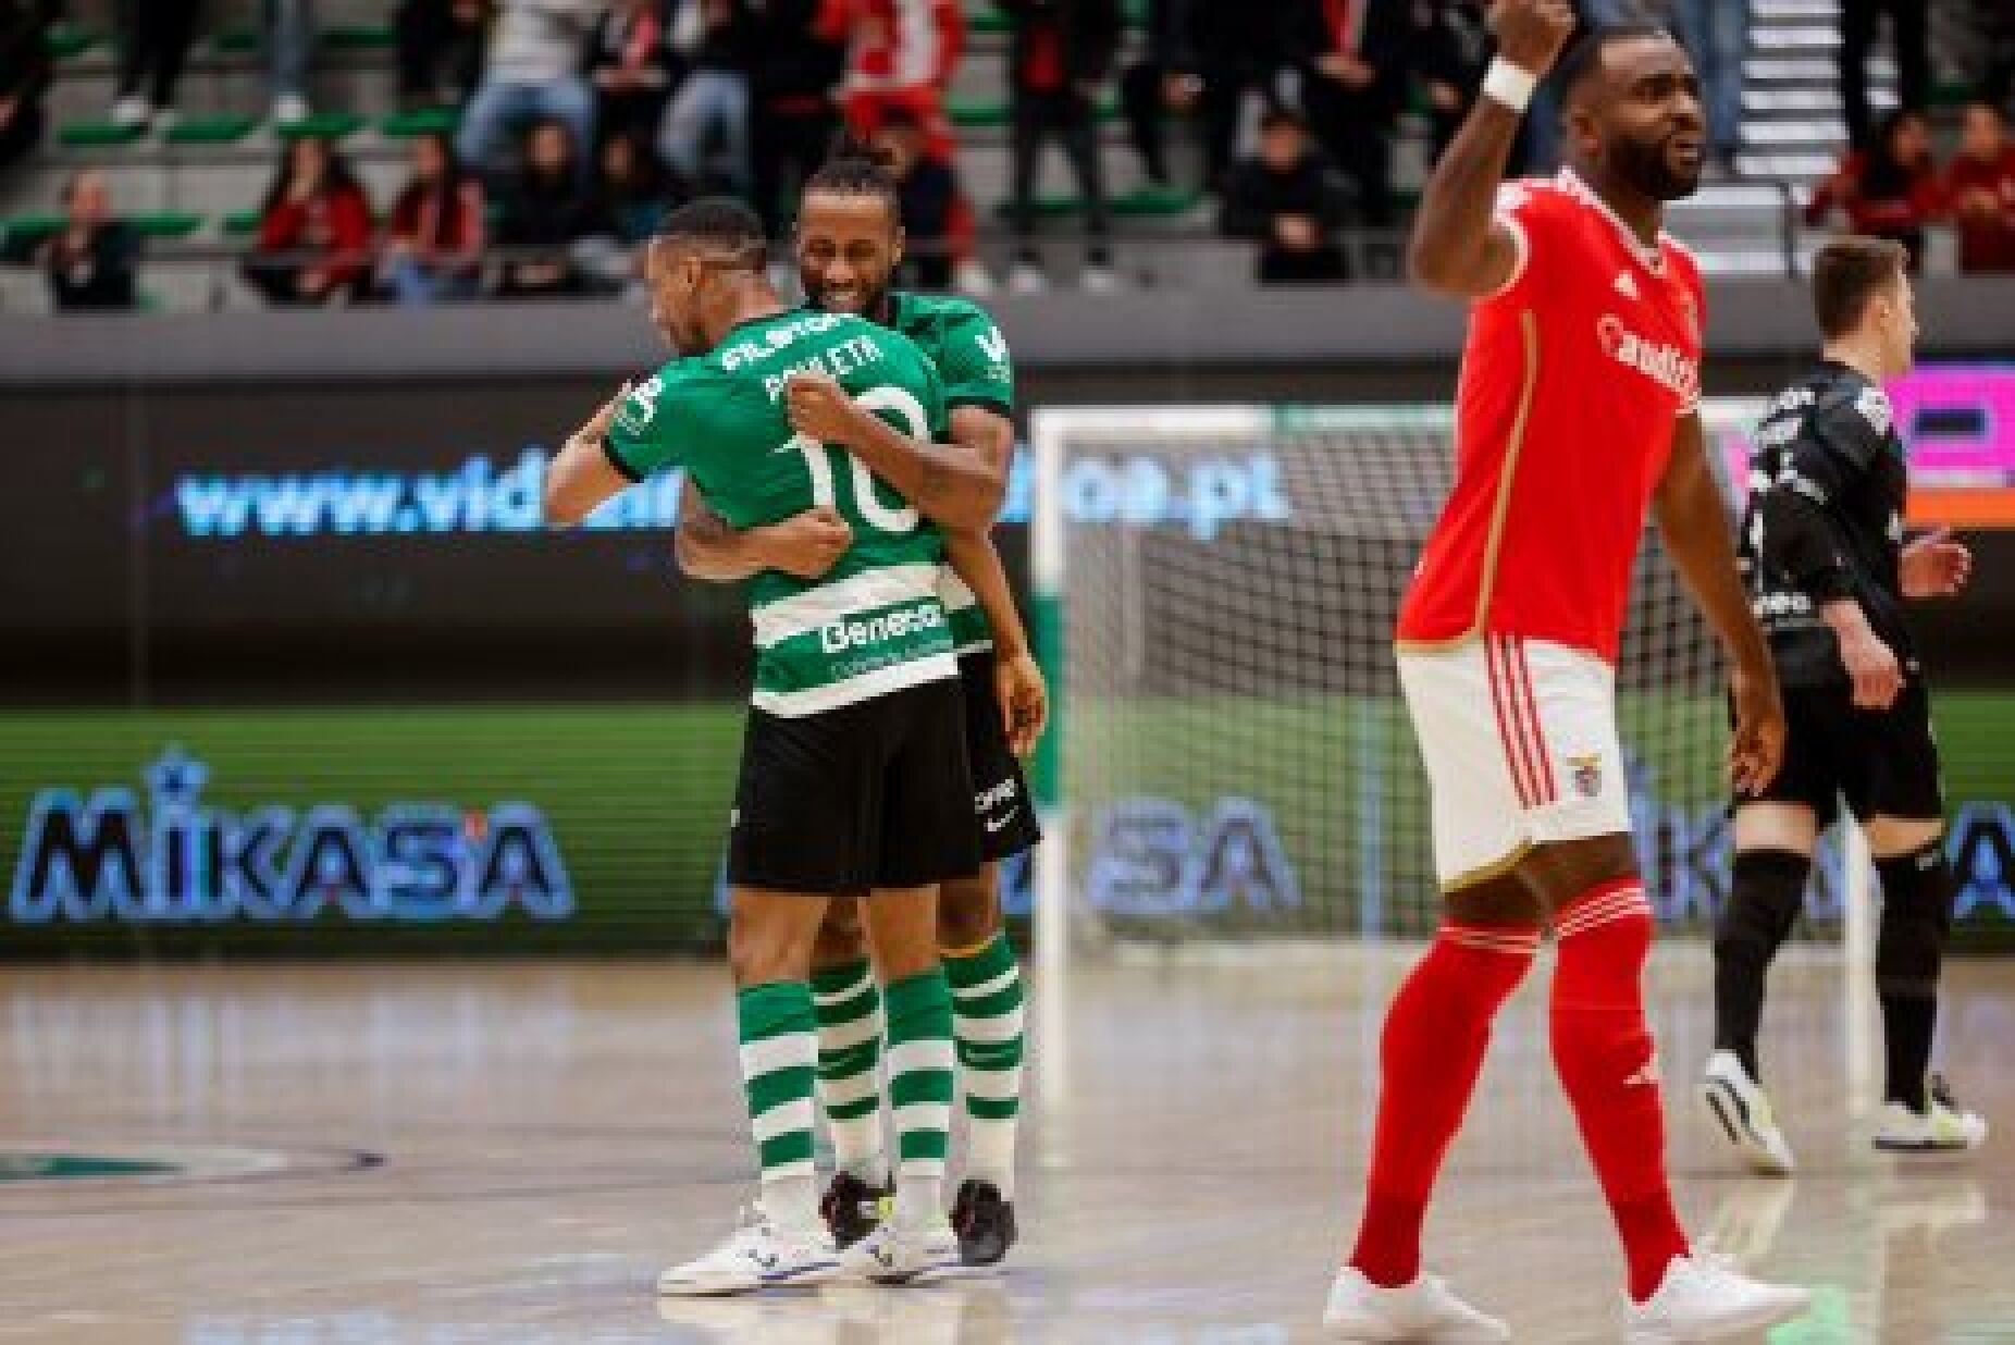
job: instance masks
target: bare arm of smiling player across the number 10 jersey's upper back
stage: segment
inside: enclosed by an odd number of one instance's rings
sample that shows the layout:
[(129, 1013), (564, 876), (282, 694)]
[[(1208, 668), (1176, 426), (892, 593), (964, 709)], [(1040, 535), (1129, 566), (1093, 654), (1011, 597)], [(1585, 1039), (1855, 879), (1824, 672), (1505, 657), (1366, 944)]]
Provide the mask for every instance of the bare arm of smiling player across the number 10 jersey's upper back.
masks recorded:
[(822, 444), (840, 444), (943, 528), (987, 528), (1008, 494), (1014, 425), (991, 407), (951, 413), (951, 444), (913, 440), (862, 409), (822, 373), (792, 375), (784, 391), (790, 425)]

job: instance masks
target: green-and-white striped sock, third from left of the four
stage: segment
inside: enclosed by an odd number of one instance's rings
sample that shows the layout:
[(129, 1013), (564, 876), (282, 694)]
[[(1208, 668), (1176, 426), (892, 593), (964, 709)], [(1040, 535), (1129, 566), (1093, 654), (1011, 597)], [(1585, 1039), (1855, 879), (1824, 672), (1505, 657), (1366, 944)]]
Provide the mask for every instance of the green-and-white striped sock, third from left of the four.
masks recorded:
[(887, 1002), (895, 1218), (917, 1226), (945, 1218), (945, 1153), (951, 1147), (951, 990), (945, 972), (905, 976), (889, 986)]

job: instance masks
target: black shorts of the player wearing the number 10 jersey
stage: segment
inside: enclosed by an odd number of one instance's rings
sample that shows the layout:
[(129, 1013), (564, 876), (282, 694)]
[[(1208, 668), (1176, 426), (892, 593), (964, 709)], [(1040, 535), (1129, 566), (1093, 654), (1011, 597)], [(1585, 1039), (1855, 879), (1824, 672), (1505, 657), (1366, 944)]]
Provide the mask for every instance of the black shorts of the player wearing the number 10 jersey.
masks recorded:
[(848, 893), (979, 869), (959, 686), (941, 678), (802, 718), (750, 710), (727, 881)]

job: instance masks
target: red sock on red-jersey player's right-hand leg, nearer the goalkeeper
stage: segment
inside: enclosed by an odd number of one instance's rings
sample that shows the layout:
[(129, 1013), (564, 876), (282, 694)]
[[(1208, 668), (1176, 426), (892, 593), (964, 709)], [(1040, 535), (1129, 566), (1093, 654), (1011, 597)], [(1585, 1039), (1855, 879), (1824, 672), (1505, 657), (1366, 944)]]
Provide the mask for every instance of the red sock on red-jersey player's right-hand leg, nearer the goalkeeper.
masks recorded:
[(1664, 1180), (1664, 1103), (1658, 1057), (1644, 1026), (1644, 958), (1650, 905), (1636, 879), (1602, 883), (1554, 922), (1554, 1069), (1574, 1105), (1582, 1143), (1630, 1262), (1630, 1297), (1642, 1303), (1664, 1278), (1687, 1234)]

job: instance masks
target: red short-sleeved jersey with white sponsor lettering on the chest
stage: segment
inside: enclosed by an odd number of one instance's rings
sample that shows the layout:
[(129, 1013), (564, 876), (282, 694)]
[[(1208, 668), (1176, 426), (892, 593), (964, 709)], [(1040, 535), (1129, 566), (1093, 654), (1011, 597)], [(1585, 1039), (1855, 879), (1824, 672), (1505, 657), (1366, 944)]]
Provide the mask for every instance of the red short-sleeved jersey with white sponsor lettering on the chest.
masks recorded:
[(1646, 248), (1572, 171), (1507, 181), (1519, 242), (1469, 311), (1455, 490), (1398, 611), (1400, 645), (1483, 633), (1616, 661), (1644, 508), (1699, 405), (1701, 270)]

